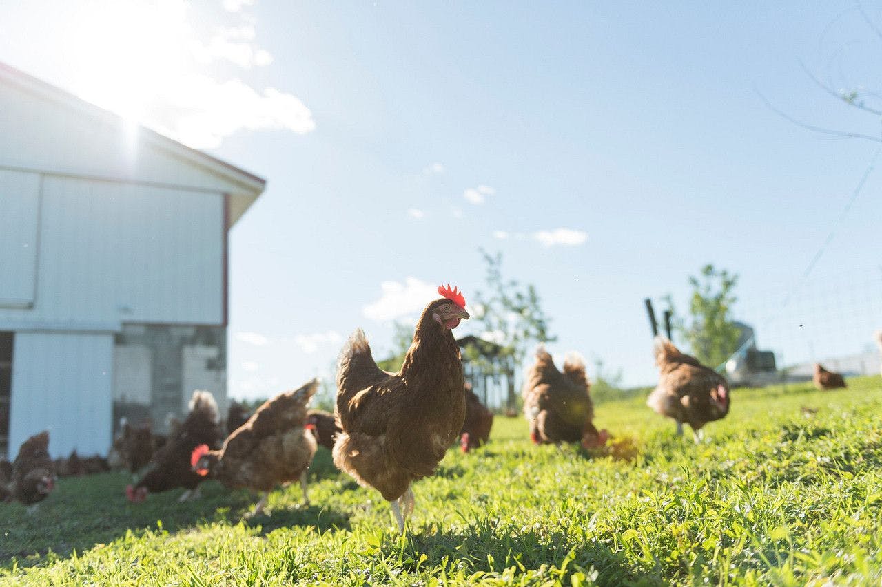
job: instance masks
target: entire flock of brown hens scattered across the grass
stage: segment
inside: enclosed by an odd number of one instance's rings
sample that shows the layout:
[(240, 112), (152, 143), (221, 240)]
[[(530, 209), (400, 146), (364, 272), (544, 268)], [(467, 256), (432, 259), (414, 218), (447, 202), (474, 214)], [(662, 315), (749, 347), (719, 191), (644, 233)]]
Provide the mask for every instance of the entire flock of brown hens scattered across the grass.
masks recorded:
[[(225, 431), (212, 395), (196, 391), (186, 419), (170, 422), (168, 436), (125, 423), (110, 463), (93, 463), (90, 470), (106, 470), (111, 464), (132, 473), (146, 468), (126, 487), (132, 503), (176, 487), (185, 489), (179, 501), (191, 500), (205, 479), (263, 492), (253, 516), (280, 484), (299, 481), (309, 503), (306, 472), (320, 444), (332, 451), (341, 471), (383, 495), (403, 532), (415, 508), (412, 484), (432, 475), (457, 439), (466, 452), (487, 442), (493, 423), (493, 414), (464, 380), (452, 335), (469, 317), (466, 301), (450, 286), (438, 287), (438, 293), (442, 297), (423, 310), (398, 373), (378, 368), (363, 331), (355, 331), (340, 353), (333, 414), (308, 410), (318, 390), (318, 380), (312, 380), (267, 400), (253, 414), (231, 406)], [(654, 353), (660, 380), (647, 405), (675, 420), (678, 434), (689, 424), (699, 441), (706, 423), (729, 413), (729, 383), (667, 338), (655, 338)], [(841, 375), (819, 365), (815, 382), (822, 389), (845, 385)], [(585, 362), (577, 354), (567, 355), (558, 369), (540, 347), (522, 391), (531, 440), (602, 448), (609, 434), (594, 427), (589, 388)], [(22, 444), (13, 463), (0, 463), (0, 501), (31, 505), (51, 493), (56, 472), (48, 448), (49, 433), (42, 432)], [(86, 460), (74, 453), (64, 466), (74, 469), (71, 474), (82, 474)], [(73, 467), (71, 461), (76, 461)]]

